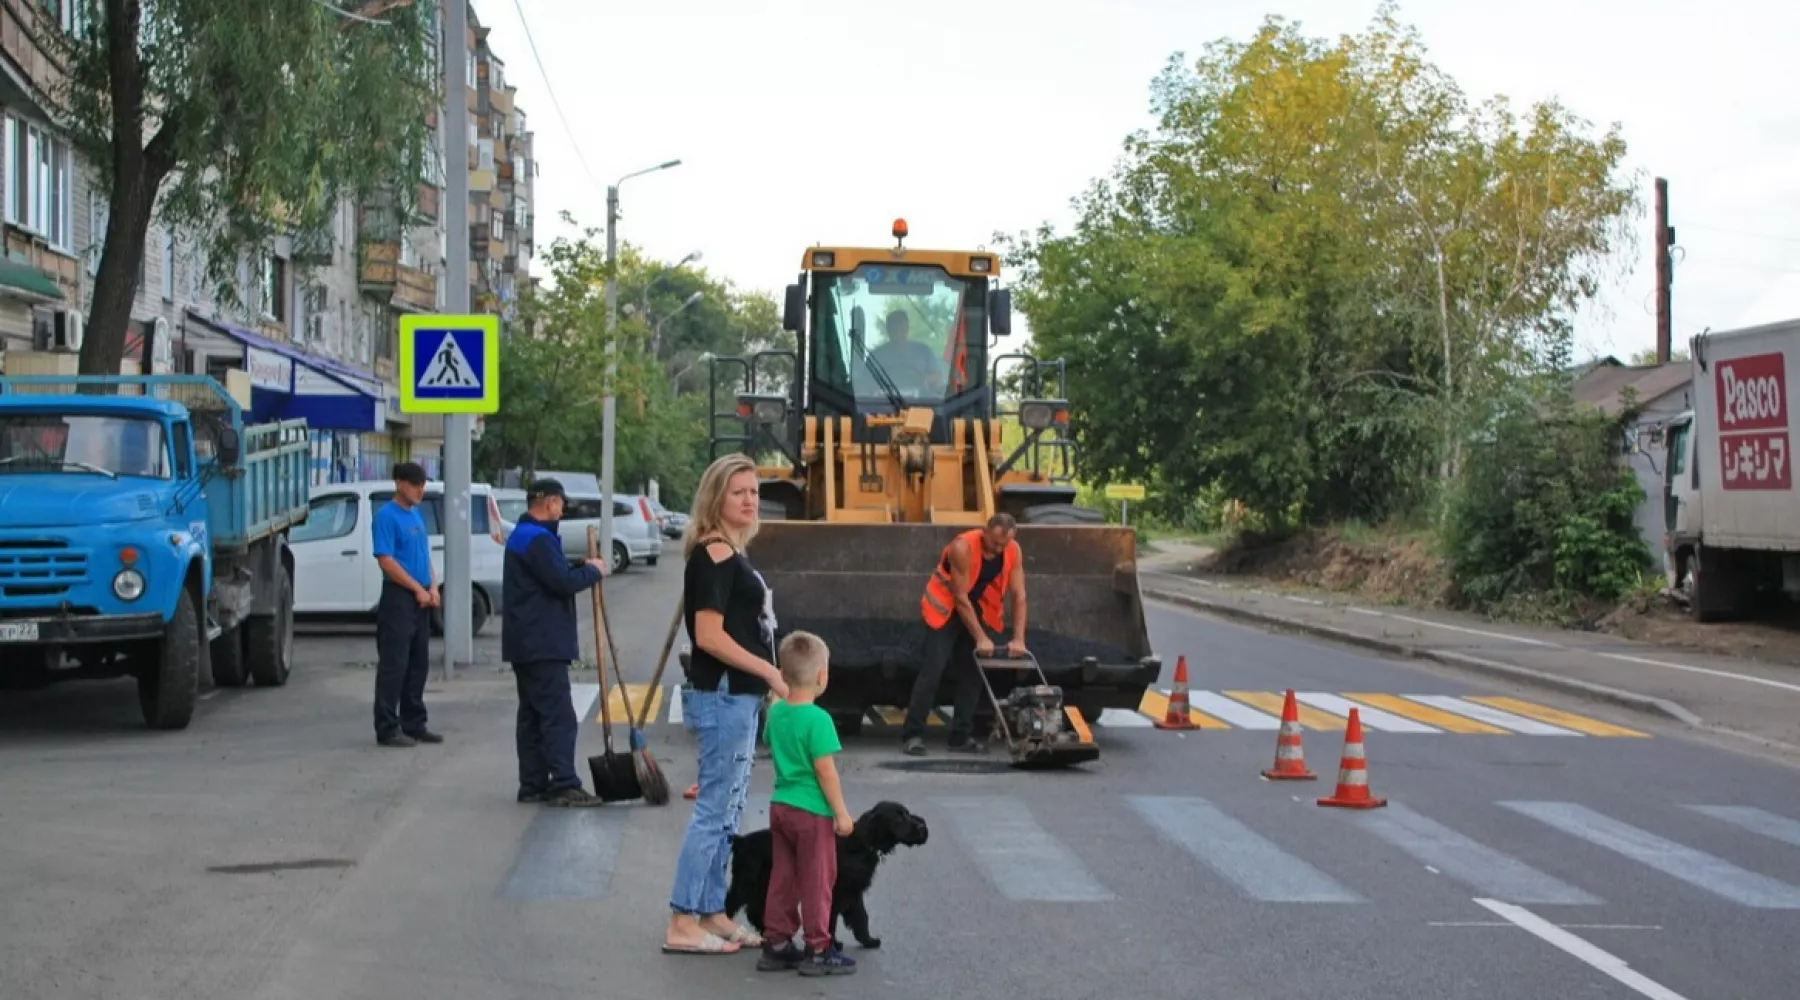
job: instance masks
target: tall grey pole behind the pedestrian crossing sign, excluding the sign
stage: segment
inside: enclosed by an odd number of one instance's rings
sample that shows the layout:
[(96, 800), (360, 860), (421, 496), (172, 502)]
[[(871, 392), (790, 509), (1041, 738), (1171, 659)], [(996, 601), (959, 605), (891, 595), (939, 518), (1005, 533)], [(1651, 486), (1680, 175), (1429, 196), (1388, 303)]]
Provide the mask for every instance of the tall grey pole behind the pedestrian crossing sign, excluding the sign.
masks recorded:
[[(468, 313), (468, 4), (445, 4), (445, 309), (452, 315)], [(410, 378), (412, 372), (401, 372)], [(470, 588), (470, 439), (473, 417), (445, 415), (445, 678), (455, 674), (455, 664), (475, 660), (475, 637), (470, 629), (473, 594)]]

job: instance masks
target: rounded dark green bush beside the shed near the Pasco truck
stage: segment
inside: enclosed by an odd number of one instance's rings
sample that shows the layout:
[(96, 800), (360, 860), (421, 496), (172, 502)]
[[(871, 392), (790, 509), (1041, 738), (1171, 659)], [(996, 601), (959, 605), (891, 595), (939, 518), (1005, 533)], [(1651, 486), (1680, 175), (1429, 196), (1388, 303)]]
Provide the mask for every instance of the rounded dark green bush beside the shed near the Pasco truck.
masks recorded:
[(1618, 441), (1618, 419), (1562, 399), (1503, 417), (1469, 448), (1444, 532), (1458, 603), (1613, 603), (1638, 585), (1651, 565), (1633, 523), (1643, 489)]

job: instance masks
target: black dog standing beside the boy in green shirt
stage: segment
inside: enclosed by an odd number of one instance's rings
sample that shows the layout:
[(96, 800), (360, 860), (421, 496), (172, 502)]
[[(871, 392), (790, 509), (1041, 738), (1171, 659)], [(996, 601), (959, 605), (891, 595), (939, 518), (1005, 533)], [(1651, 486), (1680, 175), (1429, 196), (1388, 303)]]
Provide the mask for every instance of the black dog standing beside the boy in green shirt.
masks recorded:
[[(882, 939), (869, 935), (869, 912), (862, 894), (875, 881), (875, 869), (895, 847), (918, 847), (931, 836), (922, 817), (898, 802), (877, 802), (857, 818), (857, 831), (837, 838), (837, 881), (832, 883), (832, 948), (837, 941), (837, 917), (844, 917), (850, 933), (864, 948), (880, 948)], [(774, 869), (774, 844), (767, 829), (734, 836), (731, 842), (731, 887), (725, 890), (725, 915), (745, 910), (751, 926), (763, 930), (763, 903), (769, 899), (769, 876)]]

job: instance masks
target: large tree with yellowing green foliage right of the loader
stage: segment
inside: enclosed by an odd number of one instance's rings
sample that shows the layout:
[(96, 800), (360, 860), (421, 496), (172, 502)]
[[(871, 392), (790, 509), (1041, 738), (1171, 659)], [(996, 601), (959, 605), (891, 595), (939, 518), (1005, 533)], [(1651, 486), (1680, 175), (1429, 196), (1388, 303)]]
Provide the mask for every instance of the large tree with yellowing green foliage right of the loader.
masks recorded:
[(1069, 362), (1084, 475), (1175, 507), (1418, 507), (1566, 363), (1636, 207), (1616, 129), (1471, 101), (1390, 5), (1359, 36), (1271, 18), (1177, 56), (1152, 108), (1067, 234), (1001, 239), (1035, 349)]

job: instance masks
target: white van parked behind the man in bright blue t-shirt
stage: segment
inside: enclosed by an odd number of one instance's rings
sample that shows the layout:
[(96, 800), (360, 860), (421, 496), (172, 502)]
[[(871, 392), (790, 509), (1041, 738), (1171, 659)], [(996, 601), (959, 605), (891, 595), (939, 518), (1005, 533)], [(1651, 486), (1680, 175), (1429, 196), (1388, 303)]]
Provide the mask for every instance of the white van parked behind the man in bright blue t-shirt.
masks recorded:
[[(439, 583), (445, 574), (445, 502), (443, 482), (425, 484), (419, 514), (432, 541), (432, 568)], [(493, 489), (484, 482), (470, 487), (470, 590), (473, 601), (472, 631), (500, 610), (506, 541)], [(369, 527), (374, 513), (394, 498), (391, 480), (331, 482), (313, 487), (306, 523), (288, 531), (293, 550), (293, 617), (310, 621), (373, 621), (382, 599), (382, 567), (374, 561)], [(443, 633), (443, 615), (432, 615), (432, 631)]]

